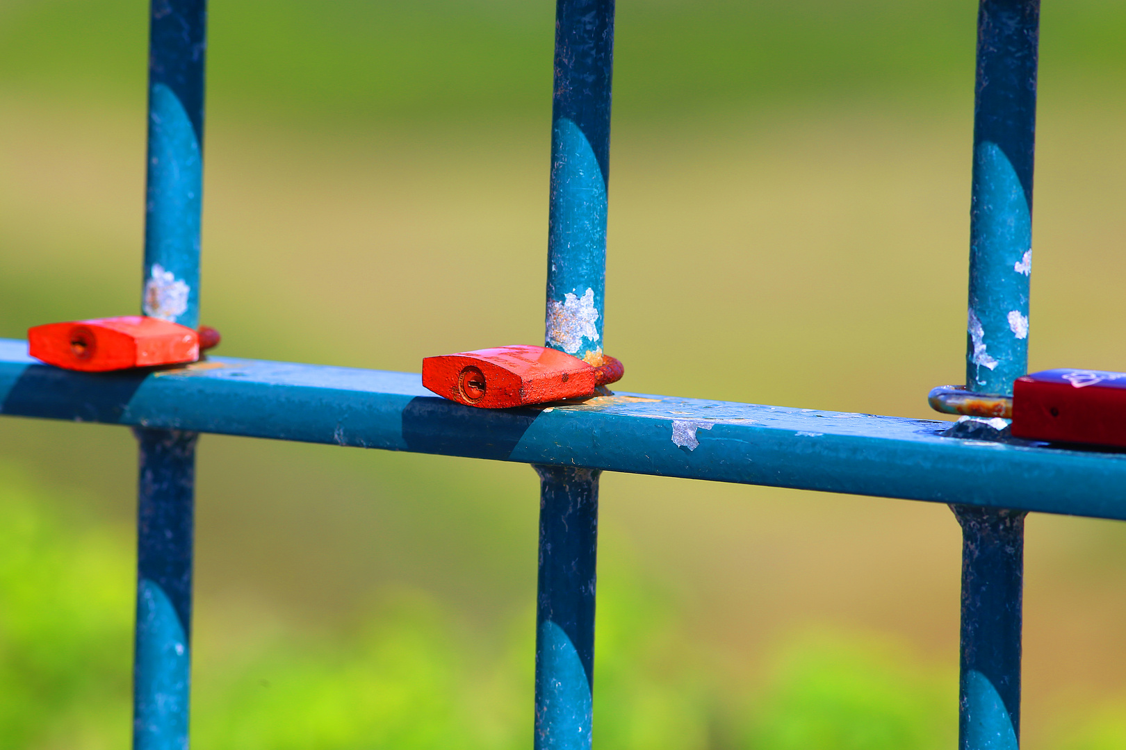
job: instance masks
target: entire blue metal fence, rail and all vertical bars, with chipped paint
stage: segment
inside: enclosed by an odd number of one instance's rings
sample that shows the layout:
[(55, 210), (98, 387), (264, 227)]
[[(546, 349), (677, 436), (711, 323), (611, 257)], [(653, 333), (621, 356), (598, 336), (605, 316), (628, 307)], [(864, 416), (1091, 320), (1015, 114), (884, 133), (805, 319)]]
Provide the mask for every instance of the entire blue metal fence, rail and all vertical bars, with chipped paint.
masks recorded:
[[(1038, 0), (981, 0), (966, 379), (1025, 373)], [(199, 309), (204, 0), (153, 0), (142, 307)], [(546, 334), (602, 352), (613, 0), (557, 0)], [(1019, 738), (1024, 518), (1126, 519), (1126, 454), (965, 440), (949, 423), (640, 394), (474, 409), (413, 373), (214, 356), (50, 368), (0, 341), (0, 414), (134, 427), (140, 443), (134, 746), (186, 748), (195, 444), (223, 433), (518, 461), (540, 477), (537, 748), (589, 748), (604, 470), (947, 503), (964, 533), (959, 744)], [(921, 386), (921, 392), (926, 385)]]

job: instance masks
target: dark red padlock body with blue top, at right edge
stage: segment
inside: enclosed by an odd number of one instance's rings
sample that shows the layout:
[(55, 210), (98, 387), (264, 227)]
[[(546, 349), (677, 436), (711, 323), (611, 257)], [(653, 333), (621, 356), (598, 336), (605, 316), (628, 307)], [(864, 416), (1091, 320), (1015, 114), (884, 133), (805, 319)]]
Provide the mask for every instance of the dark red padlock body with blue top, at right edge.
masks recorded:
[(1126, 373), (1045, 370), (1013, 382), (1015, 437), (1126, 448)]

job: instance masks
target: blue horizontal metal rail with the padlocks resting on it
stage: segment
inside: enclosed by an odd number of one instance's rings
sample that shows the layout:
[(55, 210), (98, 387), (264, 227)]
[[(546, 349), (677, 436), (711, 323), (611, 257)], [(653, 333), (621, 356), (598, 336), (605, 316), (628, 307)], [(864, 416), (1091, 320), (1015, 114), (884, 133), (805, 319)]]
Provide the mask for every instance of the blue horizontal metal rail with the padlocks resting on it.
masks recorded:
[(475, 409), (418, 374), (223, 356), (81, 373), (0, 340), (0, 414), (1126, 519), (1126, 453), (950, 423), (619, 392)]

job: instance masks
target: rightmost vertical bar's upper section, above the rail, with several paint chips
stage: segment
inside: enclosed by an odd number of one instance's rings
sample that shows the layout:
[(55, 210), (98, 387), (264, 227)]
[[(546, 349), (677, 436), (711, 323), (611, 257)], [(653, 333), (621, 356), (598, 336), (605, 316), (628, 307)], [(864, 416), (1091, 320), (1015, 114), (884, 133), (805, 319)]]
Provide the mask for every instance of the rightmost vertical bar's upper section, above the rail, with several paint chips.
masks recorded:
[(966, 386), (1012, 395), (1028, 367), (1039, 0), (982, 0)]

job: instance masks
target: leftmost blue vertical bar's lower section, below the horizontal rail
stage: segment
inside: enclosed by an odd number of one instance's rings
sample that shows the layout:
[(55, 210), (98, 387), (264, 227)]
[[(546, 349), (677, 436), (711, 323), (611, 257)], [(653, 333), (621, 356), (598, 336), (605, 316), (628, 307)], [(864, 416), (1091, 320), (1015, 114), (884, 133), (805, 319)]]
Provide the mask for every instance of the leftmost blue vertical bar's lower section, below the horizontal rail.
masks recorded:
[(187, 748), (196, 433), (135, 430), (137, 613), (133, 747)]

